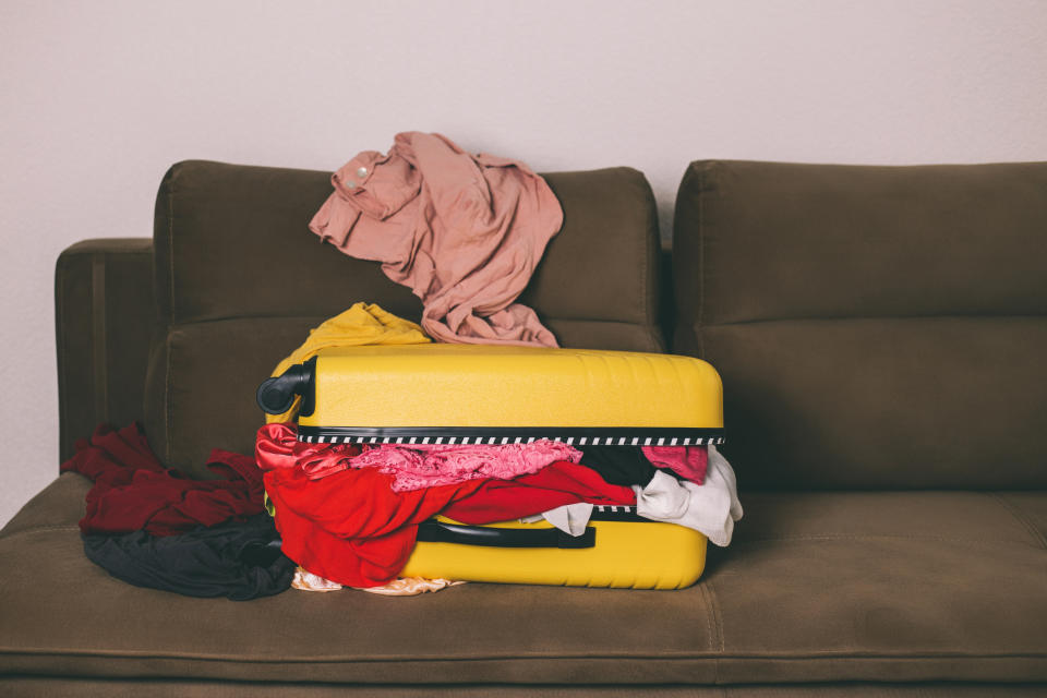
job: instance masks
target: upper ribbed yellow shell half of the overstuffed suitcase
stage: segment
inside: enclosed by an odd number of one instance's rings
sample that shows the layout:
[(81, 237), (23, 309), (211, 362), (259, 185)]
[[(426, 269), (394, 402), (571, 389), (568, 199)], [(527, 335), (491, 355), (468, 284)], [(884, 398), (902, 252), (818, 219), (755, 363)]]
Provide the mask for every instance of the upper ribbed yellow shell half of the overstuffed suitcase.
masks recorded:
[(699, 359), (490, 345), (325, 349), (302, 426), (723, 426)]

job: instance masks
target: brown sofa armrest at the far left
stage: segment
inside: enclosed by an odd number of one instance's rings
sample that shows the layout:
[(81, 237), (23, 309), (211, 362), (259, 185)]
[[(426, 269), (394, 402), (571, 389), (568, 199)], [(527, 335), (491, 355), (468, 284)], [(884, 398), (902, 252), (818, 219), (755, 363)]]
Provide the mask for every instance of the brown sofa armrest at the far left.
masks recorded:
[(143, 418), (149, 335), (155, 323), (153, 240), (84, 240), (58, 257), (59, 454), (100, 422)]

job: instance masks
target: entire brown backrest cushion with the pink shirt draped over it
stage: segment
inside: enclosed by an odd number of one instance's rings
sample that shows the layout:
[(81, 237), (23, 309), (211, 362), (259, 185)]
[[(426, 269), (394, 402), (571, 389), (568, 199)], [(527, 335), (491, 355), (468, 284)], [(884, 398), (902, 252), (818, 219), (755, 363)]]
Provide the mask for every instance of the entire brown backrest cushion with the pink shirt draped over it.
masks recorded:
[[(629, 168), (544, 174), (564, 209), (521, 302), (565, 347), (661, 351), (658, 221)], [(159, 327), (146, 432), (172, 466), (203, 472), (210, 448), (250, 453), (258, 383), (309, 329), (357, 301), (418, 321), (421, 303), (376, 263), (308, 225), (330, 173), (208, 161), (174, 165), (156, 202)]]

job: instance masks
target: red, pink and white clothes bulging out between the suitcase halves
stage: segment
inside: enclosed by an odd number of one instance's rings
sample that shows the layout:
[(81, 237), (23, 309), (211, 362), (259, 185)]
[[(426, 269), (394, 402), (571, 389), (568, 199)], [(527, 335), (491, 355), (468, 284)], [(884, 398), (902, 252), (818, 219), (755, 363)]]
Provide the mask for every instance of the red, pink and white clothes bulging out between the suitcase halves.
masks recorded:
[(726, 545), (742, 516), (734, 473), (715, 447), (312, 444), (293, 424), (258, 432), (256, 458), (284, 552), (313, 575), (371, 588), (393, 582), (418, 526), (540, 516), (571, 535), (593, 505), (696, 529)]

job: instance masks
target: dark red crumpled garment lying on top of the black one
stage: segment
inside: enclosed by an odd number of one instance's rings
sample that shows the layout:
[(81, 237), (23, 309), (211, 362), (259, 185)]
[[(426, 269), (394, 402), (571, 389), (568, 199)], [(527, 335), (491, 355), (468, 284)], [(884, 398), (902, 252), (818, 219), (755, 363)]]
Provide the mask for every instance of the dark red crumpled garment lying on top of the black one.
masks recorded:
[(192, 480), (165, 468), (136, 423), (120, 431), (98, 426), (61, 466), (95, 482), (80, 521), (84, 533), (173, 535), (264, 510), (262, 471), (252, 458), (216, 448), (207, 468), (221, 479)]

